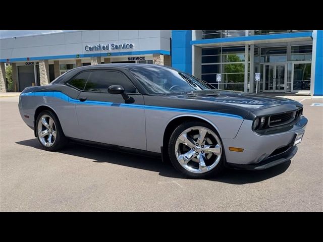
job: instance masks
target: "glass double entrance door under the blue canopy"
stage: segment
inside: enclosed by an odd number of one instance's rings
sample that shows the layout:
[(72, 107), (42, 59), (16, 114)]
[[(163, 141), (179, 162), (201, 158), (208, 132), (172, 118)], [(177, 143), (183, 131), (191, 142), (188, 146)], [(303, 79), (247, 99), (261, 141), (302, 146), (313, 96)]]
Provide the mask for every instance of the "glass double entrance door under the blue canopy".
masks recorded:
[(263, 77), (263, 92), (286, 91), (286, 64), (265, 64)]

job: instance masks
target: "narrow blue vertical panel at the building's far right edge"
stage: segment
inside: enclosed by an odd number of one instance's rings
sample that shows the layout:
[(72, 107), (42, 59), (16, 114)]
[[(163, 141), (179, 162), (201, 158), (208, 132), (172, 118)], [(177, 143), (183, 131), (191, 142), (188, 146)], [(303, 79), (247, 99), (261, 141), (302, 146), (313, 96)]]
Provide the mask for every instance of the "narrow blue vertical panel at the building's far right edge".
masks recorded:
[(323, 30), (317, 30), (314, 96), (323, 96)]

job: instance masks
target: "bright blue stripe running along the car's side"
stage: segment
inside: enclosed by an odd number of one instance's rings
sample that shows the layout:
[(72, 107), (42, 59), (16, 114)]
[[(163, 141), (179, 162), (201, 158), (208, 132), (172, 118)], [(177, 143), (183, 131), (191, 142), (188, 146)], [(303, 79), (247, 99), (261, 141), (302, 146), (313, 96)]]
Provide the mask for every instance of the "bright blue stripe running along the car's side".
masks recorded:
[(70, 103), (74, 104), (84, 104), (84, 105), (101, 105), (101, 106), (118, 106), (118, 107), (127, 107), (127, 108), (139, 108), (139, 109), (149, 109), (149, 110), (160, 110), (160, 111), (173, 111), (173, 112), (186, 112), (186, 113), (198, 113), (198, 114), (207, 114), (207, 115), (215, 115), (215, 116), (223, 116), (223, 117), (232, 117), (243, 119), (243, 117), (230, 113), (223, 112), (212, 112), (212, 111), (204, 111), (204, 110), (196, 110), (196, 109), (185, 109), (185, 108), (175, 108), (175, 107), (161, 107), (161, 106), (149, 106), (149, 105), (140, 105), (140, 104), (127, 104), (127, 103), (114, 103), (114, 102), (102, 102), (102, 101), (92, 101), (86, 100), (81, 102), (78, 99), (71, 98), (62, 92), (27, 92), (22, 93), (21, 96), (49, 96), (58, 98)]

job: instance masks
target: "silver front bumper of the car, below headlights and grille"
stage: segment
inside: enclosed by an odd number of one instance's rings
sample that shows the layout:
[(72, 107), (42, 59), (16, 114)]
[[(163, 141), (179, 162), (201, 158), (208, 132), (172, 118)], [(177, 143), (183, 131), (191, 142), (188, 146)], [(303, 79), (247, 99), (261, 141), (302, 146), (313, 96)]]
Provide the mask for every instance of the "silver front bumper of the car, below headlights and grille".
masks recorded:
[[(301, 116), (297, 124), (286, 132), (259, 135), (251, 130), (252, 122), (244, 120), (235, 139), (223, 139), (226, 165), (239, 169), (260, 170), (281, 164), (297, 152), (296, 133), (304, 132), (307, 118)], [(229, 147), (243, 148), (243, 152), (230, 151)]]

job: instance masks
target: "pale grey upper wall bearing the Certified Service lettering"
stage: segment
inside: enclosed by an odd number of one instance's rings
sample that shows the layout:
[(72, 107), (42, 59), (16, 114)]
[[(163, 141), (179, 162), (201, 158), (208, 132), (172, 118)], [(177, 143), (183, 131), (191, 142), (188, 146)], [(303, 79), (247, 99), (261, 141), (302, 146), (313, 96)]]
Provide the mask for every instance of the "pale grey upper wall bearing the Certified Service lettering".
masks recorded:
[[(170, 30), (89, 30), (0, 39), (0, 59), (101, 52), (170, 51), (170, 37)], [(125, 42), (134, 44), (134, 48), (85, 51), (86, 45)]]

